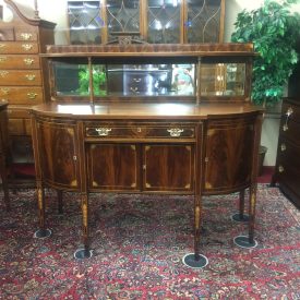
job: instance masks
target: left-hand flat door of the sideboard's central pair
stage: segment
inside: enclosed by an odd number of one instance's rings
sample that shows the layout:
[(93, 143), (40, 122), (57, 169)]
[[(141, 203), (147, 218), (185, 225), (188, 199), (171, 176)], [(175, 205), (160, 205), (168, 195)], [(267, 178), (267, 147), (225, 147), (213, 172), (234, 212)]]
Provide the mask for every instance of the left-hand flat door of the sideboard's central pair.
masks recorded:
[(140, 189), (140, 151), (134, 144), (91, 144), (87, 148), (89, 189)]

